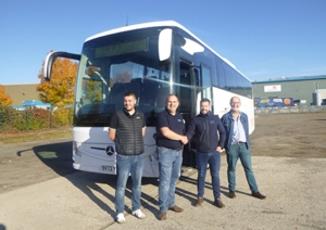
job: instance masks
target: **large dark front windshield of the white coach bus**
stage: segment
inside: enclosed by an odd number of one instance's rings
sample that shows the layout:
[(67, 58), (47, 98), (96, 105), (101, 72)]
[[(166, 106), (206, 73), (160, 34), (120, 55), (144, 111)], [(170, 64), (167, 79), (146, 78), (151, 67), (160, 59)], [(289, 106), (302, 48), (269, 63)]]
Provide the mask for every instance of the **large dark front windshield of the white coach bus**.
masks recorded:
[(125, 31), (87, 41), (83, 47), (75, 89), (77, 127), (104, 127), (134, 92), (147, 126), (165, 107), (171, 92), (171, 66), (159, 61), (159, 28)]

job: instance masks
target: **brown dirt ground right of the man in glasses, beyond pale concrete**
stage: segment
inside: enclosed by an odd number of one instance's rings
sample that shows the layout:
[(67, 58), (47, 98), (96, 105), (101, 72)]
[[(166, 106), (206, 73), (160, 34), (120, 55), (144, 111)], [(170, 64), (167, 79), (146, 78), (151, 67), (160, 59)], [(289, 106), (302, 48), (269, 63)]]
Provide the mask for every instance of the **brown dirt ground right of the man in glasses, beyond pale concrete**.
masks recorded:
[(326, 157), (326, 113), (255, 116), (253, 156)]

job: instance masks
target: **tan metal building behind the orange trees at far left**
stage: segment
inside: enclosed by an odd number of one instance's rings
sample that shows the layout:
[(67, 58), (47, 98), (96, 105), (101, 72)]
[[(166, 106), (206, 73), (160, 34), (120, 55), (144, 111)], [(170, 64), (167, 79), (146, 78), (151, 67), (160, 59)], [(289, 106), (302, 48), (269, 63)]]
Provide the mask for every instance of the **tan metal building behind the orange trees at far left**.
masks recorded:
[(23, 101), (38, 100), (39, 92), (36, 90), (38, 84), (2, 85), (4, 93), (11, 97), (13, 106), (22, 106)]

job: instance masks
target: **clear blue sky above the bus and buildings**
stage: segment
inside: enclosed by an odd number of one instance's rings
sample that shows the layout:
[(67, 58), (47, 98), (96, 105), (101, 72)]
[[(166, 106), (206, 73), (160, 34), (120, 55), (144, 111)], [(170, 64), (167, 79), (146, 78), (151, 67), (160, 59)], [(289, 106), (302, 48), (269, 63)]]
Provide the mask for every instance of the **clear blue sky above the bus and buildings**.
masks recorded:
[(326, 0), (1, 0), (0, 85), (35, 84), (50, 50), (173, 20), (249, 79), (326, 75)]

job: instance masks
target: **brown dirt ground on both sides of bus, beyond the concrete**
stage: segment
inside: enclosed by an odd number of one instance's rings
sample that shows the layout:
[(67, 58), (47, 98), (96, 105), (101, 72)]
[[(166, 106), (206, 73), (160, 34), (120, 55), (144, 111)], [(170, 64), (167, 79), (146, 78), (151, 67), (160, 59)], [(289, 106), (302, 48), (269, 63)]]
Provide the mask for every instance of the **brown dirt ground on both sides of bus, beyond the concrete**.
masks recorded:
[[(255, 116), (253, 156), (326, 157), (326, 113)], [(0, 145), (0, 193), (75, 171), (71, 137)]]

